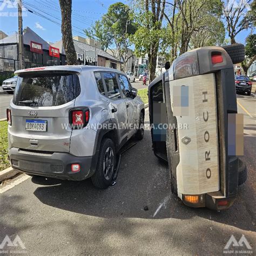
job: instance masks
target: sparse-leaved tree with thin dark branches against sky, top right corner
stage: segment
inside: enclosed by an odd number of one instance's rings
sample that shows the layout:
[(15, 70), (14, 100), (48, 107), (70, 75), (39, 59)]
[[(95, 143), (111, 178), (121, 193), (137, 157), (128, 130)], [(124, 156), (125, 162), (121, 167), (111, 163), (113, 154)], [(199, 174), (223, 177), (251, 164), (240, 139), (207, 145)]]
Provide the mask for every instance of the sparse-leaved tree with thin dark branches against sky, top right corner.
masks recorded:
[(250, 10), (250, 3), (251, 0), (240, 0), (239, 2), (226, 0), (223, 2), (224, 16), (231, 44), (236, 43), (235, 36), (237, 36), (239, 32), (252, 28), (252, 17), (247, 14), (247, 11)]

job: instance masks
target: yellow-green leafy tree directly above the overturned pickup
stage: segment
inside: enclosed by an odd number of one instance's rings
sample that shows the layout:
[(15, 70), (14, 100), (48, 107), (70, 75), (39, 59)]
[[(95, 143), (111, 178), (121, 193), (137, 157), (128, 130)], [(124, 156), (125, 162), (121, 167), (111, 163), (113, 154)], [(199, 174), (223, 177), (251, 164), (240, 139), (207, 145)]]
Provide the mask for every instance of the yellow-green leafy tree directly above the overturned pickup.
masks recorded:
[(171, 11), (165, 14), (171, 30), (171, 60), (188, 48), (223, 43), (221, 11), (220, 0), (174, 0)]

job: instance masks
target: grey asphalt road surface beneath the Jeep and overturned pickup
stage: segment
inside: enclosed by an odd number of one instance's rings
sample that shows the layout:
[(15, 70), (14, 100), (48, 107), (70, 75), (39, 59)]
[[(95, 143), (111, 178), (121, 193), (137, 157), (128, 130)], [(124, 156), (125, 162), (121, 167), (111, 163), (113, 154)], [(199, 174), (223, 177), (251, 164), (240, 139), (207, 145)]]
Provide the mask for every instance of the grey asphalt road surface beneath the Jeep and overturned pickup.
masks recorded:
[(245, 114), (248, 180), (230, 209), (183, 205), (171, 193), (168, 167), (154, 157), (145, 131), (144, 139), (123, 153), (117, 184), (107, 190), (96, 190), (90, 180), (25, 176), (12, 181), (9, 185), (26, 179), (8, 191), (3, 192), (8, 184), (0, 188), (0, 243), (6, 234), (12, 241), (18, 234), (25, 249), (9, 250), (33, 255), (218, 255), (232, 234), (237, 240), (244, 234), (255, 254), (256, 99), (238, 96), (238, 101)]

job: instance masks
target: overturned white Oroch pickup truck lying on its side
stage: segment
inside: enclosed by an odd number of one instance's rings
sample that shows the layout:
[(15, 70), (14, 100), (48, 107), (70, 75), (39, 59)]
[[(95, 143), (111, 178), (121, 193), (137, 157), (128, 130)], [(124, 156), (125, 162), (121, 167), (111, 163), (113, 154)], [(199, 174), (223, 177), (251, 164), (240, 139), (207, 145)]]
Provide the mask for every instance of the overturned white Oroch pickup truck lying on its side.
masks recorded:
[(247, 178), (233, 70), (243, 59), (240, 44), (194, 49), (149, 85), (152, 149), (187, 206), (228, 208)]

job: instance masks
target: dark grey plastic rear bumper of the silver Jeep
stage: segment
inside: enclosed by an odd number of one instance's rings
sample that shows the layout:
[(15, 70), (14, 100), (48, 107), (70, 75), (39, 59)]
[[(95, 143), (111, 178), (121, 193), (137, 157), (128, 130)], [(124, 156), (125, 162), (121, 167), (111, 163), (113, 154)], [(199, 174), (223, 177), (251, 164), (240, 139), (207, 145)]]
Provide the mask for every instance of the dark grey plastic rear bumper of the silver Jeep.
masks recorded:
[[(11, 167), (28, 174), (65, 180), (84, 180), (94, 173), (93, 157), (76, 157), (65, 152), (42, 152), (22, 150), (12, 147), (9, 150)], [(80, 171), (72, 172), (71, 165), (79, 164)]]

